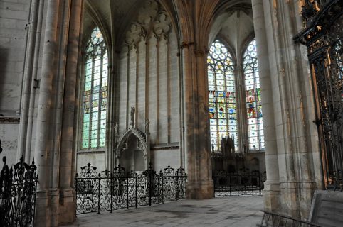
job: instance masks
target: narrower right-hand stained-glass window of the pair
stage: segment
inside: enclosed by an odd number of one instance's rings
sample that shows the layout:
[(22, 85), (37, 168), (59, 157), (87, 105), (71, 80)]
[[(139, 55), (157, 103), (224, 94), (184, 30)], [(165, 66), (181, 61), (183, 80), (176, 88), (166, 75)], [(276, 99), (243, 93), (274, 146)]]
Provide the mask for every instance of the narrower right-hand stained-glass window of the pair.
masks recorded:
[(249, 150), (264, 150), (263, 119), (260, 95), (260, 78), (256, 41), (249, 43), (243, 56), (243, 70), (246, 82), (246, 114), (248, 122)]

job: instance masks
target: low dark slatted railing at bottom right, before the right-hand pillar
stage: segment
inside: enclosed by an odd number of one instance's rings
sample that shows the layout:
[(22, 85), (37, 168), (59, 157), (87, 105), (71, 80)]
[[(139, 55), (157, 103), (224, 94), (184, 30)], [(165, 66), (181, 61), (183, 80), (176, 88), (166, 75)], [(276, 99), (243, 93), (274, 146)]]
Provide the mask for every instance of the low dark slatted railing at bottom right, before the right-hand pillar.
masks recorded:
[(324, 227), (316, 223), (309, 221), (303, 221), (297, 218), (292, 218), (290, 216), (285, 216), (282, 214), (275, 214), (273, 212), (262, 211), (263, 217), (260, 223), (256, 226), (258, 227), (280, 227), (280, 226), (297, 226), (297, 227)]

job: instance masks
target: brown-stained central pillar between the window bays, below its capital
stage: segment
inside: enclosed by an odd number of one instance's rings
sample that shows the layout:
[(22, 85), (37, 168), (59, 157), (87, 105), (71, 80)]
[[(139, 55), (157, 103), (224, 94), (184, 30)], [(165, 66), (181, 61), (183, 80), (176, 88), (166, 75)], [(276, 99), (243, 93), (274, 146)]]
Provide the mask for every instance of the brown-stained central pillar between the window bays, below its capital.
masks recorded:
[(206, 54), (182, 44), (184, 68), (184, 138), (187, 156), (187, 199), (213, 197), (209, 142)]

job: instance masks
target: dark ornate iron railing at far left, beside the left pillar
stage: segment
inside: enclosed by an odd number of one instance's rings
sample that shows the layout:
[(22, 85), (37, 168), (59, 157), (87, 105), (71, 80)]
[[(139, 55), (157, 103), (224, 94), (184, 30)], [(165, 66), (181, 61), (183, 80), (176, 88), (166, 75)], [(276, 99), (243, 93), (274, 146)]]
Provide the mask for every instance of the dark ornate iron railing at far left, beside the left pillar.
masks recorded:
[(9, 169), (6, 157), (0, 174), (0, 226), (33, 226), (38, 175), (37, 167), (23, 162)]

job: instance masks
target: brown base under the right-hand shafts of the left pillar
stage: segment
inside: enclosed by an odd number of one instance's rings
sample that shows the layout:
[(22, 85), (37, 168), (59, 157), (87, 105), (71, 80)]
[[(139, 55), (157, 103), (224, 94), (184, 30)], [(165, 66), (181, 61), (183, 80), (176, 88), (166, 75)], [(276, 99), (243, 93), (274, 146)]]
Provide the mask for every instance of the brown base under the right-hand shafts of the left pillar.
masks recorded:
[(63, 226), (75, 221), (76, 198), (74, 189), (60, 189), (58, 207), (58, 226)]

